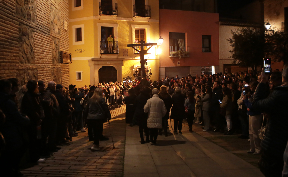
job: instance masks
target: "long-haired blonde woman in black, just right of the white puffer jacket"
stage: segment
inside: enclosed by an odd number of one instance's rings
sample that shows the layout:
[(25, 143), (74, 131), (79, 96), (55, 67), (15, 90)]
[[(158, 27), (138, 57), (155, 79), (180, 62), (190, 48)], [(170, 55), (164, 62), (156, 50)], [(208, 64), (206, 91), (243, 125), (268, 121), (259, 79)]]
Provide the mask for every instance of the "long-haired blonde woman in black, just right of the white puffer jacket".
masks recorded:
[[(165, 136), (168, 136), (167, 127), (168, 127), (169, 113), (172, 107), (172, 99), (167, 92), (166, 86), (161, 86), (158, 96), (160, 99), (164, 101), (167, 110), (166, 115), (162, 118), (162, 129), (164, 130)], [(159, 129), (159, 135), (162, 135), (162, 129)]]

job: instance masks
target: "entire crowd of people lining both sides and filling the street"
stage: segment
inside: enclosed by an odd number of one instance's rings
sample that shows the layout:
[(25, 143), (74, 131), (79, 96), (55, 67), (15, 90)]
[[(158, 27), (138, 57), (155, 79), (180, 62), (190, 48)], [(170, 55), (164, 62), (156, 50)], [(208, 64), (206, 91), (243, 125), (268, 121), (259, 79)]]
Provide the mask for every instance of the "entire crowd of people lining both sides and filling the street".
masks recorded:
[(259, 167), (265, 176), (280, 176), (283, 166), (288, 176), (287, 91), (288, 68), (269, 75), (189, 74), (89, 88), (29, 80), (20, 91), (16, 78), (0, 80), (1, 172), (21, 176), (19, 163), (27, 149), (32, 163), (43, 162), (87, 128), (89, 141), (94, 141), (91, 150), (99, 151), (99, 141), (109, 140), (103, 136), (109, 108), (125, 103), (126, 123), (139, 126), (141, 144), (157, 145), (163, 131), (168, 136), (169, 118), (174, 120), (173, 133), (182, 134), (185, 120), (190, 132), (198, 124), (204, 132), (241, 134), (239, 138), (250, 141), (247, 153), (261, 154)]

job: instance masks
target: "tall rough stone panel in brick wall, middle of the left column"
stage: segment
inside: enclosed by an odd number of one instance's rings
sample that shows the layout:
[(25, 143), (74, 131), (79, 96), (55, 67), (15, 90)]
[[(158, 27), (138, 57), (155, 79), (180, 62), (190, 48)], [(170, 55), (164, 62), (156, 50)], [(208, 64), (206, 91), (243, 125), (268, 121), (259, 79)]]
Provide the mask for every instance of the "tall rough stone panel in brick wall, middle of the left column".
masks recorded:
[(34, 32), (24, 24), (19, 25), (19, 63), (34, 64)]

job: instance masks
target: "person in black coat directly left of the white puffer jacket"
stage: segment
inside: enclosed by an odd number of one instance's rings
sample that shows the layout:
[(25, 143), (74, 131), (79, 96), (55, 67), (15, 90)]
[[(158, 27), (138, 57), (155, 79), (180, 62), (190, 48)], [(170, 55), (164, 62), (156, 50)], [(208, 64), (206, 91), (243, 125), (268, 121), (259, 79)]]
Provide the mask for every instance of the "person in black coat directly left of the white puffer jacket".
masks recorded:
[(149, 131), (147, 128), (147, 118), (148, 114), (144, 113), (144, 106), (148, 99), (151, 98), (150, 93), (152, 92), (151, 88), (146, 87), (140, 91), (140, 94), (136, 97), (134, 101), (134, 106), (136, 108), (134, 117), (133, 117), (133, 124), (139, 126), (139, 133), (141, 138), (141, 144), (144, 144), (144, 137), (143, 137), (143, 129), (146, 135), (146, 143), (149, 143)]

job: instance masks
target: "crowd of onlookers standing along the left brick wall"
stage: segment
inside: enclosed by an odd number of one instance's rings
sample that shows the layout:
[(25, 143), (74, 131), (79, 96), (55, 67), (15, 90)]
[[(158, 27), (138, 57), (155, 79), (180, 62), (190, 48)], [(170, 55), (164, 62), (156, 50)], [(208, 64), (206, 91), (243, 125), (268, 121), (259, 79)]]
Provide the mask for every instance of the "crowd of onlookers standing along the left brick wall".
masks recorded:
[[(91, 150), (99, 150), (95, 148), (99, 141), (109, 140), (103, 136), (103, 123), (111, 115), (106, 111), (102, 88), (76, 88), (72, 84), (63, 87), (54, 81), (49, 81), (46, 88), (41, 80), (29, 80), (20, 90), (19, 87), (16, 78), (0, 80), (1, 176), (23, 176), (19, 164), (27, 151), (29, 157), (25, 161), (41, 163), (87, 128), (89, 141), (94, 141)], [(103, 100), (101, 109), (107, 112), (105, 118), (103, 113), (92, 111), (96, 101)], [(98, 107), (98, 112), (101, 109)]]

